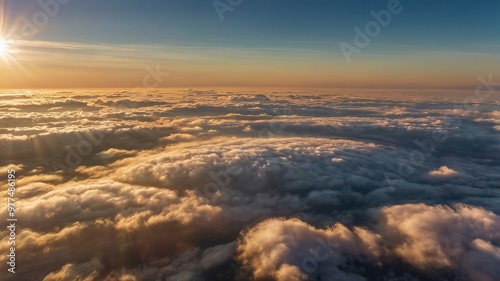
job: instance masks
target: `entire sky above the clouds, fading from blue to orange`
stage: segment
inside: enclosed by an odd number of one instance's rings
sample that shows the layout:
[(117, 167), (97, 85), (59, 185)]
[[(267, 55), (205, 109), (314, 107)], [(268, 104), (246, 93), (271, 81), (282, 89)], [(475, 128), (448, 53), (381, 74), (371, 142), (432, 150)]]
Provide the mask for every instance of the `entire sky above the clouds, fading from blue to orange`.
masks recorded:
[(140, 87), (157, 66), (169, 73), (159, 87), (475, 88), (500, 74), (495, 0), (401, 0), (348, 63), (339, 44), (388, 2), (243, 0), (221, 21), (212, 1), (72, 0), (21, 36), (38, 1), (0, 0), (12, 40), (0, 87)]

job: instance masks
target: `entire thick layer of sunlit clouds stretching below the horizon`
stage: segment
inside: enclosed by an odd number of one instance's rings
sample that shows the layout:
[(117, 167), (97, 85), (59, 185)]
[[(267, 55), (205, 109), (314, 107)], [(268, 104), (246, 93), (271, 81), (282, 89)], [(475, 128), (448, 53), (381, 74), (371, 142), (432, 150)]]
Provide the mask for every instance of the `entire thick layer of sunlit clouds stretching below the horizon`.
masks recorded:
[(498, 280), (500, 103), (464, 99), (4, 93), (15, 277)]

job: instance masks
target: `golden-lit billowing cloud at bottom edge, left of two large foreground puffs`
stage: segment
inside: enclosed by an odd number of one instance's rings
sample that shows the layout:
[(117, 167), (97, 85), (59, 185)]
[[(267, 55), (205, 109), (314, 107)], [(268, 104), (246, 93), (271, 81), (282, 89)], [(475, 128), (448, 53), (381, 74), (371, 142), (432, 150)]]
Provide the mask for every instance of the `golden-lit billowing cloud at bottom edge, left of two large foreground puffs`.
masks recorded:
[(365, 280), (357, 273), (340, 269), (352, 257), (362, 259), (364, 241), (342, 224), (322, 230), (298, 219), (271, 219), (243, 236), (238, 258), (257, 280), (308, 280), (326, 276)]

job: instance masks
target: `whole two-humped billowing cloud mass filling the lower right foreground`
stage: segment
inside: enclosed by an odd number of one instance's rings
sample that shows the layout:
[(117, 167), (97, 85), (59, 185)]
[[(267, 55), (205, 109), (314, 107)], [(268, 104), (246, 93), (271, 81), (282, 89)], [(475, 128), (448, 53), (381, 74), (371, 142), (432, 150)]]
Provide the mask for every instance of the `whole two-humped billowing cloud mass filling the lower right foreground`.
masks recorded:
[(371, 230), (267, 220), (243, 235), (238, 258), (257, 280), (369, 280), (353, 265), (378, 265), (382, 275), (398, 261), (411, 264), (424, 278), (446, 272), (458, 272), (466, 280), (500, 277), (500, 250), (494, 246), (500, 242), (500, 217), (492, 212), (465, 205), (407, 204), (382, 208), (372, 216), (377, 223)]

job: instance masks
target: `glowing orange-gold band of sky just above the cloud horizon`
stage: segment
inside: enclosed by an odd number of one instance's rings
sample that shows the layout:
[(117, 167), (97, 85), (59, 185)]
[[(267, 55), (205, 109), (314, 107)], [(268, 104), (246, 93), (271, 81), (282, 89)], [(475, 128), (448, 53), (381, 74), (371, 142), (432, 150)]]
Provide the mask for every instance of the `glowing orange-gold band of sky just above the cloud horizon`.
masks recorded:
[(479, 52), (367, 52), (349, 64), (331, 49), (13, 40), (22, 25), (4, 14), (0, 4), (0, 89), (141, 87), (148, 68), (169, 74), (155, 88), (473, 89), (500, 64)]

